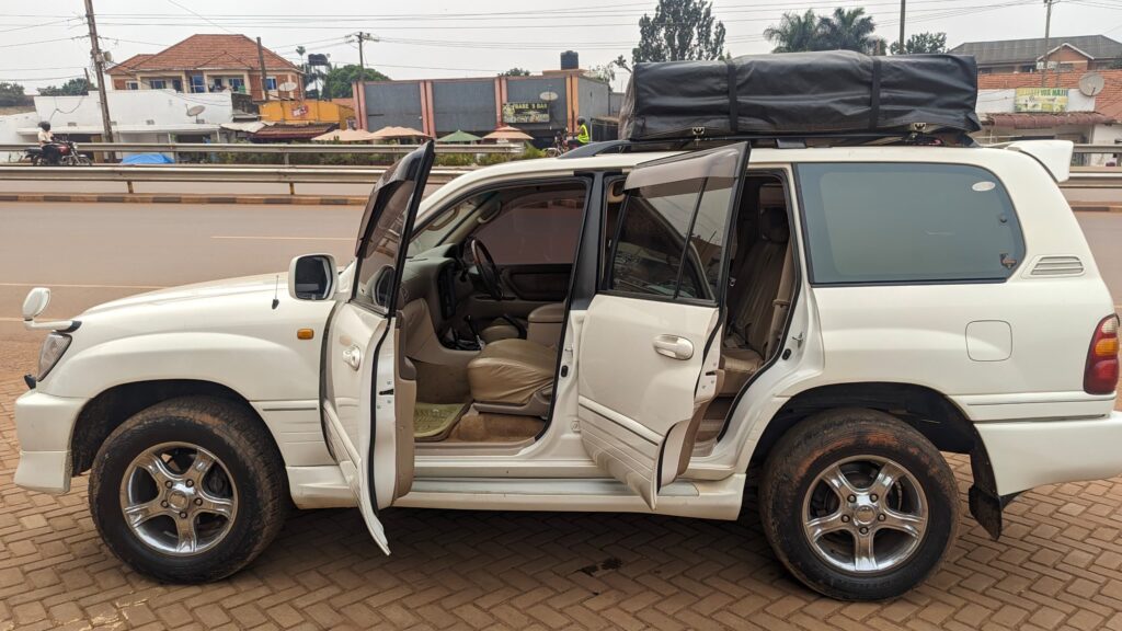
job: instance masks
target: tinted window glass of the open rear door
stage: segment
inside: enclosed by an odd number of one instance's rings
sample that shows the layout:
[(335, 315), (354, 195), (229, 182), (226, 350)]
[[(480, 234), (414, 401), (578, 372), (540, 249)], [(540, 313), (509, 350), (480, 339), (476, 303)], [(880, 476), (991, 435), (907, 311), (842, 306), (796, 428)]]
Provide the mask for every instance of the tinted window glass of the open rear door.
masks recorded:
[(735, 183), (686, 180), (631, 191), (608, 289), (716, 300)]

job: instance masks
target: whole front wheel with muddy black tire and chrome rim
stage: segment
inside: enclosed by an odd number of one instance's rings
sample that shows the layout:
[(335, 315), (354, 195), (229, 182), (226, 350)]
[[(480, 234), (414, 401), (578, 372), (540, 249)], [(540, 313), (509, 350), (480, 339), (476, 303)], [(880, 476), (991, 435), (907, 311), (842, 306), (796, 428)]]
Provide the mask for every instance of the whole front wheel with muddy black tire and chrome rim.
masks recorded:
[(285, 469), (243, 404), (184, 397), (158, 403), (102, 443), (90, 510), (122, 561), (169, 583), (229, 576), (269, 545), (287, 506)]

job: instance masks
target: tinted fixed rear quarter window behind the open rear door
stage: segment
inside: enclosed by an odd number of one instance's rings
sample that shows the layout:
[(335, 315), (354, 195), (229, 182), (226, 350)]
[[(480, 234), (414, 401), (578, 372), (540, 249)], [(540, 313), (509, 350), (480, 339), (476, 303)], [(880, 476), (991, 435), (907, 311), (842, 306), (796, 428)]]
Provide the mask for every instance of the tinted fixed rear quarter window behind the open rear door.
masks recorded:
[(1003, 281), (1024, 256), (1017, 213), (984, 168), (798, 166), (816, 284)]

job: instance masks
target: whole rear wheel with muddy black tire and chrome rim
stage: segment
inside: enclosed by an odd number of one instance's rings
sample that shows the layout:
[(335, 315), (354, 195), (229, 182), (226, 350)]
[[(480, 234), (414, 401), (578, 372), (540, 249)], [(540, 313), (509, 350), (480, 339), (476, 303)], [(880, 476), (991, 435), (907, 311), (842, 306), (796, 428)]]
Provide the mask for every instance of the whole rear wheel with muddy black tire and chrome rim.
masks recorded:
[(873, 410), (810, 417), (774, 446), (760, 516), (775, 555), (811, 589), (846, 601), (900, 596), (955, 541), (958, 492), (946, 459)]

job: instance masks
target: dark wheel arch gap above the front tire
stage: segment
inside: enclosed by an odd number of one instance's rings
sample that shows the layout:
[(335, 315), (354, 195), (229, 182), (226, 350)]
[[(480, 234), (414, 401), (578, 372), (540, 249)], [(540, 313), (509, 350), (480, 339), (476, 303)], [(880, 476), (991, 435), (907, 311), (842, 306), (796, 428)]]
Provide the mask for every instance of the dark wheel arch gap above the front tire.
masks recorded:
[(276, 437), (265, 420), (249, 400), (233, 388), (204, 379), (139, 381), (109, 387), (82, 408), (71, 435), (71, 475), (76, 476), (89, 470), (101, 445), (130, 417), (157, 403), (184, 396), (210, 396), (238, 404), (246, 410), (248, 418), (260, 423), (260, 428), (279, 452)]

